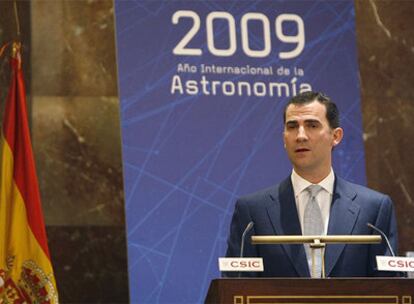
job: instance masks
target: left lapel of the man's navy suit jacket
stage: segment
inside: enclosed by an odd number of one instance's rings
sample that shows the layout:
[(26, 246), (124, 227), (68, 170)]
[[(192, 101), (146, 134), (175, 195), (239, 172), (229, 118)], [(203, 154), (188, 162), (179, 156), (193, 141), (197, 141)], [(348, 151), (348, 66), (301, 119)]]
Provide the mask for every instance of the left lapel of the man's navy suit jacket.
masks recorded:
[[(290, 177), (280, 183), (279, 188), (271, 195), (267, 204), (267, 212), (277, 235), (302, 235), (295, 195)], [(297, 273), (301, 277), (309, 277), (309, 267), (303, 245), (281, 245), (290, 258)]]

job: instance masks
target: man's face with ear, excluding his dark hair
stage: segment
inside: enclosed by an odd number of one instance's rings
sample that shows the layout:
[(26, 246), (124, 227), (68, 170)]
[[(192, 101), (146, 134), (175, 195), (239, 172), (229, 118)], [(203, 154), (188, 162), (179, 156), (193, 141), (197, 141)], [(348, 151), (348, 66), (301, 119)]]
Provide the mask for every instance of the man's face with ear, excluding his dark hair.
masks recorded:
[(299, 174), (329, 173), (332, 148), (340, 143), (343, 131), (331, 129), (326, 107), (318, 101), (291, 104), (286, 109), (284, 143), (290, 161)]

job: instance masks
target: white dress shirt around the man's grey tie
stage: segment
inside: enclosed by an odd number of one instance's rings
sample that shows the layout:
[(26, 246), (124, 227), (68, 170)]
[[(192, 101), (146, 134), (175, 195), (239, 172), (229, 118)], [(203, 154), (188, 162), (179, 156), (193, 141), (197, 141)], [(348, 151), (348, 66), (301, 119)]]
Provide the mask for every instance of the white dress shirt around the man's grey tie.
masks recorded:
[[(296, 209), (298, 210), (300, 227), (302, 228), (303, 232), (303, 218), (305, 214), (306, 203), (309, 200), (309, 192), (305, 189), (308, 186), (312, 185), (312, 183), (300, 177), (295, 172), (295, 170), (292, 170), (291, 180), (293, 185), (293, 192), (295, 194)], [(331, 210), (334, 183), (335, 174), (333, 173), (332, 168), (328, 176), (318, 183), (318, 185), (322, 187), (322, 190), (319, 191), (319, 193), (316, 195), (316, 200), (322, 213), (324, 235), (326, 235), (328, 232), (329, 212)]]

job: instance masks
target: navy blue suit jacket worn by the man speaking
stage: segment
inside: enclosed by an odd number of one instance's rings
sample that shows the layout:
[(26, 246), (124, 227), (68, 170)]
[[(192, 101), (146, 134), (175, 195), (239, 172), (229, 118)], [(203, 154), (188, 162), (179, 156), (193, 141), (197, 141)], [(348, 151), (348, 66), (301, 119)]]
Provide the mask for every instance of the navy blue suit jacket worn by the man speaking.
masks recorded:
[[(251, 245), (251, 235), (301, 235), (290, 177), (279, 185), (240, 198), (235, 207), (226, 256), (240, 255), (241, 237), (247, 224), (254, 228), (246, 237), (244, 256), (263, 257), (264, 272), (243, 276), (309, 277), (303, 245)], [(363, 186), (335, 178), (329, 216), (329, 235), (370, 235), (371, 223), (381, 229), (397, 252), (397, 227), (391, 199)], [(326, 277), (390, 276), (376, 270), (376, 255), (390, 255), (381, 244), (328, 244), (325, 251)], [(234, 275), (228, 273), (224, 275)]]

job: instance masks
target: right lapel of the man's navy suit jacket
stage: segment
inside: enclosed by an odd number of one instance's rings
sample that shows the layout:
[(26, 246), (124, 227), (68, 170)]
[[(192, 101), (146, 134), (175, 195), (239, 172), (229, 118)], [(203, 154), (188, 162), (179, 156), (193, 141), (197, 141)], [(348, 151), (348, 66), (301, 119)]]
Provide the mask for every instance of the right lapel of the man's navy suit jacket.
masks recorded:
[[(328, 235), (351, 235), (359, 214), (359, 205), (354, 202), (355, 191), (349, 184), (336, 177), (329, 215)], [(334, 268), (345, 244), (327, 245), (325, 253), (326, 276)]]

